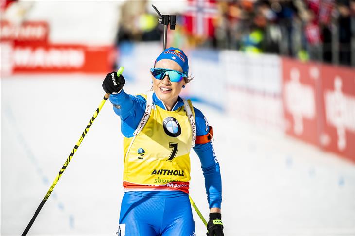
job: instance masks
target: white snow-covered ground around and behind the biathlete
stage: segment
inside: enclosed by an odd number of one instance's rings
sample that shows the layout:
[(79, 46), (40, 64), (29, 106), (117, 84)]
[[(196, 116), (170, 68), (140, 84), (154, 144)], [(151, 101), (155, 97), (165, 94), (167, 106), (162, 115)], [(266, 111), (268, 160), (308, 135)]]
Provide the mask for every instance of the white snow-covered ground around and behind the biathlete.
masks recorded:
[[(20, 235), (96, 110), (105, 75), (1, 78), (1, 235)], [(127, 83), (139, 93), (146, 84)], [(354, 165), (195, 103), (214, 132), (225, 235), (354, 235)], [(29, 235), (115, 235), (122, 187), (120, 119), (106, 102)], [(208, 204), (191, 152), (191, 196)], [(177, 206), (178, 207), (178, 206)], [(205, 235), (194, 212), (196, 234)]]

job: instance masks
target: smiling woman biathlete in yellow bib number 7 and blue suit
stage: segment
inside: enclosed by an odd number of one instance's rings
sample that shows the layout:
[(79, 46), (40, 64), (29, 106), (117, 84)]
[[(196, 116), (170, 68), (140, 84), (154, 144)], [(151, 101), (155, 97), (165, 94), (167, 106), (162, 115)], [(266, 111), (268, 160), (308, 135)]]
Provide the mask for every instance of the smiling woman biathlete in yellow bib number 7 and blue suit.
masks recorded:
[(107, 74), (102, 84), (124, 135), (125, 189), (119, 235), (195, 236), (189, 201), (191, 147), (205, 177), (210, 205), (208, 236), (223, 236), (221, 175), (211, 143), (212, 127), (191, 101), (179, 97), (190, 82), (185, 53), (164, 50), (156, 59), (152, 90), (133, 96), (122, 75)]

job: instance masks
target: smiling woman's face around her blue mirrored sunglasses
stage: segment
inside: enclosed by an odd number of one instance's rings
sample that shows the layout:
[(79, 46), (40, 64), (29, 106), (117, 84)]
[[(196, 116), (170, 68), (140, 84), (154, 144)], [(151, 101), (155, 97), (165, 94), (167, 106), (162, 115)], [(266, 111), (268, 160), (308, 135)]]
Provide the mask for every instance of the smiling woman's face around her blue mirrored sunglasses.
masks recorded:
[[(182, 72), (179, 64), (170, 59), (162, 59), (155, 64), (155, 68), (173, 69)], [(177, 102), (177, 96), (180, 94), (182, 86), (186, 84), (182, 79), (180, 82), (171, 82), (166, 75), (162, 80), (152, 76), (153, 90), (158, 98), (164, 102), (166, 108), (171, 110)]]

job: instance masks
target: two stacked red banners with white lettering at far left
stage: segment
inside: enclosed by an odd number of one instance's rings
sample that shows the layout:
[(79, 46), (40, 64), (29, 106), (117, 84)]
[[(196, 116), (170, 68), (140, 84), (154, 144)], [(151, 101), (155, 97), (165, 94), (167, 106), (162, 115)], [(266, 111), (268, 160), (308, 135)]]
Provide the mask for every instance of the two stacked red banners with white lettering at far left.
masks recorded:
[(116, 59), (114, 46), (53, 44), (49, 25), (1, 21), (1, 75), (16, 73), (107, 73)]

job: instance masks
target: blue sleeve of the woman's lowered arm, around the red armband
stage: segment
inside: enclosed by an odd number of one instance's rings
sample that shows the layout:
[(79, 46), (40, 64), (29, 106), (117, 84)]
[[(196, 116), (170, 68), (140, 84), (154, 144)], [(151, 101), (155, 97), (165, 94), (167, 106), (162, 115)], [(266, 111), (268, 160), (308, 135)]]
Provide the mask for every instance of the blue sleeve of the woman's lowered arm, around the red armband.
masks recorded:
[[(203, 116), (200, 110), (196, 108), (194, 108), (194, 110), (196, 119), (196, 135), (206, 135), (209, 131), (207, 119)], [(214, 153), (212, 142), (196, 144), (194, 150), (201, 161), (201, 168), (203, 176), (205, 177), (207, 200), (210, 208), (221, 208), (222, 180), (219, 163)]]

